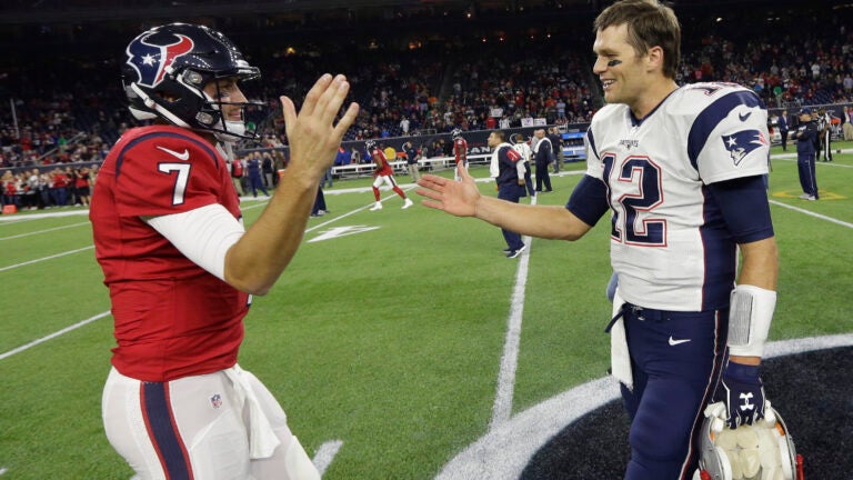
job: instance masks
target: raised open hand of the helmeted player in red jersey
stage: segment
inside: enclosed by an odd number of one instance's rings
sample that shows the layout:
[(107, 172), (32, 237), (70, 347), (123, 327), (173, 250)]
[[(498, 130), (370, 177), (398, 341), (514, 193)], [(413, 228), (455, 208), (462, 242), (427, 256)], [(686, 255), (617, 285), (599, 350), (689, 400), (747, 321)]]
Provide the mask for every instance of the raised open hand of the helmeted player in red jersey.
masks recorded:
[(334, 123), (349, 91), (347, 77), (325, 73), (308, 92), (299, 113), (290, 98), (280, 98), (290, 143), (289, 168), (307, 169), (313, 181), (332, 166), (343, 134), (359, 114), (359, 104), (350, 103), (343, 117)]

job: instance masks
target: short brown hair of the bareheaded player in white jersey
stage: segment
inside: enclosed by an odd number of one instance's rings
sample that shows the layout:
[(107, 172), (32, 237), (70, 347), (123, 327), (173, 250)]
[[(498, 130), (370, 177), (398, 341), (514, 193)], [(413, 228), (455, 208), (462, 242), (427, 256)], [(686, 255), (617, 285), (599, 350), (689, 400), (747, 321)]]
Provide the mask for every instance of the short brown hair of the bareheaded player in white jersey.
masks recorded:
[(663, 49), (663, 74), (674, 79), (681, 59), (681, 26), (675, 12), (658, 0), (621, 0), (599, 14), (593, 32), (623, 23), (636, 54), (652, 47)]

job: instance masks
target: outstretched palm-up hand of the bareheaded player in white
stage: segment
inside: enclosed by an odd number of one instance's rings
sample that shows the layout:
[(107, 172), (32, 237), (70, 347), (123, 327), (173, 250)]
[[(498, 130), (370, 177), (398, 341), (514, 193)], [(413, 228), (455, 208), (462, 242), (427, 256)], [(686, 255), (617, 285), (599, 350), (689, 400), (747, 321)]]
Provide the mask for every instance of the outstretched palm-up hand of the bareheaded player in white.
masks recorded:
[(461, 180), (455, 181), (425, 174), (418, 180), (421, 188), (415, 193), (428, 199), (423, 202), (424, 207), (444, 210), (456, 217), (473, 217), (476, 214), (480, 190), (466, 169), (460, 168), (459, 177)]

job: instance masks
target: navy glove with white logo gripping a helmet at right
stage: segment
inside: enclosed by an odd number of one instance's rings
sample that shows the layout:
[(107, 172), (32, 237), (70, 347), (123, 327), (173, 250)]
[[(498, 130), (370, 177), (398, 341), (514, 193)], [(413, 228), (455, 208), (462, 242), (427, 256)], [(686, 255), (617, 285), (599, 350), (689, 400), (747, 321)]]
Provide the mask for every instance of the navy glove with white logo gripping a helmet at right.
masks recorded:
[(752, 424), (764, 418), (764, 386), (759, 377), (759, 366), (729, 360), (714, 400), (725, 403), (729, 428)]

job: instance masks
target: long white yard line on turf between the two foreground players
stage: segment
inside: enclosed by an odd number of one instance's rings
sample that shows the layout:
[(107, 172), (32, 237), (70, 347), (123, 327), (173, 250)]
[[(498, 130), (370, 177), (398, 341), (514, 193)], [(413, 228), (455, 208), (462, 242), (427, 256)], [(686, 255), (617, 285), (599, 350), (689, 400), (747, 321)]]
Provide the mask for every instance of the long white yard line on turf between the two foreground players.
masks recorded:
[[(530, 199), (531, 204), (536, 204), (536, 198)], [(503, 343), (501, 356), (501, 370), (498, 373), (498, 391), (492, 407), (492, 420), (489, 430), (502, 426), (512, 417), (512, 398), (515, 390), (515, 370), (519, 367), (519, 344), (521, 343), (521, 321), (524, 318), (524, 289), (528, 286), (528, 270), (530, 264), (530, 250), (532, 239), (523, 237), (526, 249), (521, 253), (521, 261), (515, 271), (515, 286), (510, 299), (510, 317), (506, 320), (506, 339)]]

